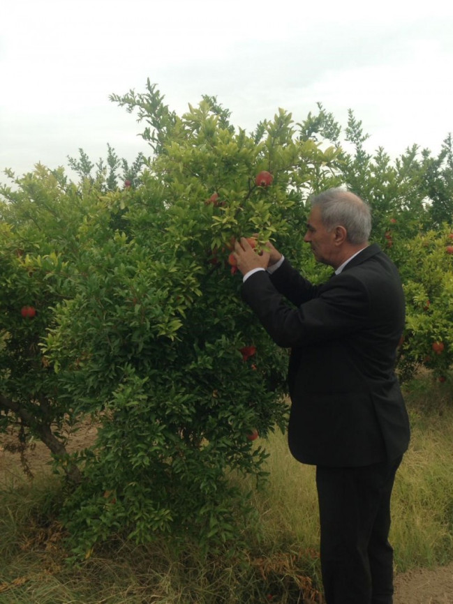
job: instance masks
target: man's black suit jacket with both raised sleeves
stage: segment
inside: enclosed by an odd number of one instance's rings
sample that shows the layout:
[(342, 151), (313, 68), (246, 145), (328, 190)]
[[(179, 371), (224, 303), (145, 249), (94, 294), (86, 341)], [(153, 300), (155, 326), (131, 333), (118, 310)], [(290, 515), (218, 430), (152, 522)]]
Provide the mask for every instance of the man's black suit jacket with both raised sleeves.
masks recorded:
[(404, 295), (379, 246), (318, 286), (285, 260), (273, 275), (253, 273), (242, 296), (276, 344), (291, 348), (288, 443), (297, 460), (359, 467), (406, 451), (408, 414), (394, 375)]

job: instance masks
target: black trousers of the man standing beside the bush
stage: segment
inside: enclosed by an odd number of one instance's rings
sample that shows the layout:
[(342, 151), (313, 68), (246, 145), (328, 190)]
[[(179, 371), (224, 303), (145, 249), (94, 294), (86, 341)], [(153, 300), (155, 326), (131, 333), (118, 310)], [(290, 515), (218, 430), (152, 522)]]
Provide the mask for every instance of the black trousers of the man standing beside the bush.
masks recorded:
[(327, 604), (392, 604), (390, 497), (400, 463), (316, 468)]

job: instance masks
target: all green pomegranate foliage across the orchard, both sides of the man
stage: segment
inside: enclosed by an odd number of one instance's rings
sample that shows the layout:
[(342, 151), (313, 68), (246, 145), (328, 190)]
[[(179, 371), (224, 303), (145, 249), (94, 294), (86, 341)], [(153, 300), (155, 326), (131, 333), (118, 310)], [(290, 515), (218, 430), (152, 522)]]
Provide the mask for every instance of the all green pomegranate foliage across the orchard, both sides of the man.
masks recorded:
[[(307, 197), (355, 190), (403, 275), (401, 375), (426, 363), (443, 377), (451, 139), (437, 158), (413, 147), (392, 163), (365, 151), (352, 112), (342, 140), (322, 105), (302, 123), (279, 110), (246, 133), (215, 97), (181, 116), (149, 81), (112, 100), (144, 123), (150, 158), (128, 165), (107, 146), (93, 163), (80, 149), (77, 183), (37, 165), (8, 172), (14, 186), (1, 189), (0, 428), (45, 441), (70, 478), (62, 519), (77, 557), (112, 534), (230, 544), (250, 512), (240, 477), (262, 478), (266, 435), (288, 412), (288, 351), (242, 303), (233, 242), (258, 234), (260, 250), (272, 239), (322, 280), (330, 269), (303, 243)], [(67, 430), (87, 417), (96, 443), (69, 455)]]

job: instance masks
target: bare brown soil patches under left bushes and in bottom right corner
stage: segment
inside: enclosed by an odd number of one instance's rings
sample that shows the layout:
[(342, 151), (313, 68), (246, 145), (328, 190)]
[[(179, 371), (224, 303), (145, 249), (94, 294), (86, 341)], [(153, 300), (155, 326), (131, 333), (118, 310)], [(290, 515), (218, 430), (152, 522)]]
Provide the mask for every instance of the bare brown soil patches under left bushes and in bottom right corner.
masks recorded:
[[(86, 425), (70, 436), (68, 450), (82, 449), (96, 437), (96, 428)], [(21, 467), (20, 453), (8, 451), (17, 437), (0, 435), (0, 488), (27, 480)], [(40, 442), (28, 451), (32, 473), (38, 476), (50, 468), (50, 454)], [(453, 564), (434, 568), (417, 568), (395, 577), (394, 604), (453, 604)]]

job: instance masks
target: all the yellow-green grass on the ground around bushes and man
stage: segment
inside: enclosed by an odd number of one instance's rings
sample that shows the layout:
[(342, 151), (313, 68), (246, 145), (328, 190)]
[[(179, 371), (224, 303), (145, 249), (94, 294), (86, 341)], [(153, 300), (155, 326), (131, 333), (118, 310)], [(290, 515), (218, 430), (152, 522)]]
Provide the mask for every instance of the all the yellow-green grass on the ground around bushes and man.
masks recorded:
[[(406, 399), (413, 439), (392, 500), (396, 572), (453, 560), (452, 387), (425, 377), (406, 386)], [(315, 470), (292, 459), (285, 435), (271, 435), (266, 448), (269, 480), (251, 497), (257, 520), (243, 529), (246, 548), (230, 557), (165, 539), (147, 547), (117, 541), (73, 568), (54, 520), (57, 479), (3, 485), (0, 604), (284, 604), (297, 601), (301, 588), (314, 596)]]

